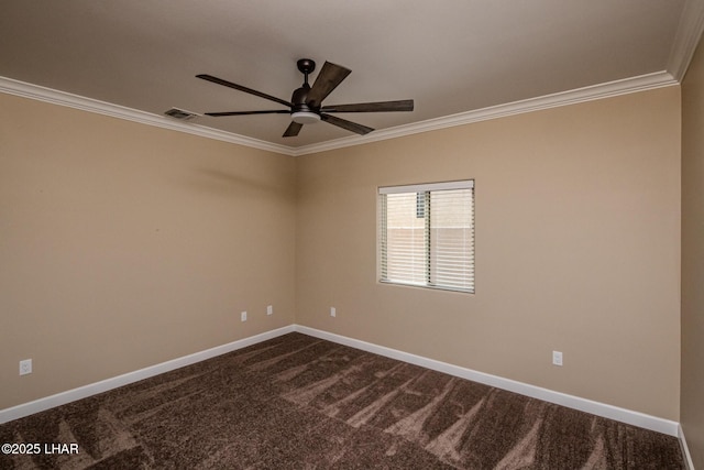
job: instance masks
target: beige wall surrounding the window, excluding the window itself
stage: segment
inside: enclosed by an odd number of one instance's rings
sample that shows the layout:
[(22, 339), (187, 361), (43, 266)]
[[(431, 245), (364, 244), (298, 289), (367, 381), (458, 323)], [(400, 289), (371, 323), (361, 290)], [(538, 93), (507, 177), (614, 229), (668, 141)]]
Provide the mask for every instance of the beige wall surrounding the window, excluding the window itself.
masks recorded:
[[(459, 178), (476, 294), (378, 284), (377, 186)], [(679, 419), (679, 87), (299, 157), (296, 187), (298, 324)]]

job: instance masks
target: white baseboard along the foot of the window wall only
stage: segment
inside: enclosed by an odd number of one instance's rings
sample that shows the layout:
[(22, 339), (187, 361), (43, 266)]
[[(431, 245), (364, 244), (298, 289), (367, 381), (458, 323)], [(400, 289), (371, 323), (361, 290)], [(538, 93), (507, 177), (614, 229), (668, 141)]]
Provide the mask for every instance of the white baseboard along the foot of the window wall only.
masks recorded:
[[(348, 338), (344, 336), (318, 330), (315, 328), (296, 325), (295, 330), (316, 338), (326, 339), (328, 341), (361, 349), (363, 351), (373, 352), (375, 354), (385, 356), (387, 358), (397, 359), (399, 361), (420, 365), (438, 372), (444, 372), (461, 379), (471, 380), (497, 389), (507, 390), (509, 392), (519, 393), (532, 398), (542, 400), (569, 408), (579, 409), (581, 412), (591, 413), (609, 419), (667, 434), (669, 436), (680, 437), (680, 424), (673, 420), (659, 418), (657, 416), (634, 412), (618, 406), (607, 405), (605, 403), (594, 402), (579, 396), (568, 395), (565, 393), (554, 392), (552, 390), (542, 389), (540, 386), (517, 382), (510, 379), (504, 379), (497, 375), (491, 375), (465, 369), (459, 365), (449, 364), (447, 362), (436, 361), (433, 359), (424, 358), (421, 356), (410, 354), (408, 352), (398, 351), (396, 349), (386, 348), (371, 342), (361, 341), (359, 339)], [(682, 439), (680, 439), (682, 441)]]

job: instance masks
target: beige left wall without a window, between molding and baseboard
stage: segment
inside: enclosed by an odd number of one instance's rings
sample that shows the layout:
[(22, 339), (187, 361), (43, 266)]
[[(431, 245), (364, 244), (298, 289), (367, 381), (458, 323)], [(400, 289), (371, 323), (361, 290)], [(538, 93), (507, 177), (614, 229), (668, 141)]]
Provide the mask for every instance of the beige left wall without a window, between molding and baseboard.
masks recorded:
[(294, 159), (0, 109), (0, 408), (294, 323)]

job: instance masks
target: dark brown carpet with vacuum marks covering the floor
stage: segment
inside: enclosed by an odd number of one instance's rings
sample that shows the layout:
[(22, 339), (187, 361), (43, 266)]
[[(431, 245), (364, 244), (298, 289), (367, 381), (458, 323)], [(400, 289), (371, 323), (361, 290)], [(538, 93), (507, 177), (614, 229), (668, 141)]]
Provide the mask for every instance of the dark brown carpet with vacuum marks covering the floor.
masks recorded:
[(0, 442), (42, 446), (1, 469), (684, 468), (674, 437), (301, 334), (0, 425)]

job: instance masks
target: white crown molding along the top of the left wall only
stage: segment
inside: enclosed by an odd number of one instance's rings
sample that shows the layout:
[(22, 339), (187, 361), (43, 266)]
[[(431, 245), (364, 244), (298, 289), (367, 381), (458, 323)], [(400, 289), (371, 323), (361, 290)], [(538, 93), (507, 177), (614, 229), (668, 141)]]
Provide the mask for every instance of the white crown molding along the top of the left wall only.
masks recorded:
[(292, 147), (285, 145), (277, 145), (199, 124), (180, 122), (166, 116), (153, 114), (151, 112), (86, 98), (66, 91), (54, 90), (12, 78), (0, 77), (0, 92), (293, 156)]

